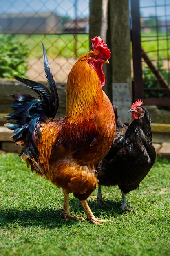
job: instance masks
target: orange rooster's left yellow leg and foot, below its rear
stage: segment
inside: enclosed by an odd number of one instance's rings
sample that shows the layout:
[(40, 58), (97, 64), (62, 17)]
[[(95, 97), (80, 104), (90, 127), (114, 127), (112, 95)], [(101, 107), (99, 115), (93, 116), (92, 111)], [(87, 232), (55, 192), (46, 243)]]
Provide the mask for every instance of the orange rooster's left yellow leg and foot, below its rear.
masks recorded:
[(64, 194), (64, 209), (62, 213), (60, 214), (61, 217), (63, 217), (65, 220), (68, 220), (69, 218), (75, 218), (77, 220), (84, 220), (84, 218), (78, 217), (78, 216), (73, 216), (70, 214), (70, 207), (69, 207), (69, 193), (66, 189), (63, 189), (63, 194)]

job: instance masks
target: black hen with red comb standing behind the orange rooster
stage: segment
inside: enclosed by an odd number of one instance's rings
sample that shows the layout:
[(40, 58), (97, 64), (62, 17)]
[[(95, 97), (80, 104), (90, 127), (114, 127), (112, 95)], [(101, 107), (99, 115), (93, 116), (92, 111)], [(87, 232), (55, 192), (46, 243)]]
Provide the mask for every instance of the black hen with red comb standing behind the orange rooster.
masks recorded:
[[(155, 162), (156, 152), (152, 145), (151, 118), (141, 100), (135, 101), (128, 112), (134, 120), (125, 126), (119, 120), (113, 144), (104, 159), (97, 164), (99, 179), (97, 200), (102, 198), (101, 186), (118, 185), (122, 193), (121, 209), (128, 209), (126, 194), (137, 189), (139, 183), (150, 171)], [(117, 120), (117, 112), (115, 112)], [(124, 132), (124, 135), (121, 132)], [(105, 203), (106, 204), (106, 203)]]

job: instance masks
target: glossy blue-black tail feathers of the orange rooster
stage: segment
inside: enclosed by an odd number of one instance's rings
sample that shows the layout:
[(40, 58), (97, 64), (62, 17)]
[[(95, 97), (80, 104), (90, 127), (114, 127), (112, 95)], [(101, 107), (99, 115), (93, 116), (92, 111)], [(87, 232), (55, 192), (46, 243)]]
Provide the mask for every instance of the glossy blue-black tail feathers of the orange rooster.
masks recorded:
[(5, 126), (14, 130), (12, 135), (13, 141), (23, 147), (22, 159), (29, 158), (33, 162), (35, 169), (43, 174), (42, 169), (36, 162), (39, 155), (36, 141), (41, 139), (40, 124), (49, 122), (55, 117), (59, 99), (57, 86), (49, 68), (46, 51), (43, 44), (42, 46), (44, 70), (50, 90), (42, 83), (14, 76), (16, 80), (24, 83), (23, 86), (35, 91), (39, 98), (35, 99), (26, 93), (13, 95), (14, 102), (9, 105), (13, 108), (13, 112), (5, 117), (12, 123), (7, 123)]

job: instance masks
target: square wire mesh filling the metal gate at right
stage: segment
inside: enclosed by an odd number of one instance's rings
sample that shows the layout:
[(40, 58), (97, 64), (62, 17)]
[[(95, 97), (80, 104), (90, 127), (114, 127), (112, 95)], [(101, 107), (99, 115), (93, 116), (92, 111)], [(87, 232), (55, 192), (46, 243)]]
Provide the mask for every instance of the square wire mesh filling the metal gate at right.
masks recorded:
[(170, 96), (170, 1), (140, 0), (144, 97)]

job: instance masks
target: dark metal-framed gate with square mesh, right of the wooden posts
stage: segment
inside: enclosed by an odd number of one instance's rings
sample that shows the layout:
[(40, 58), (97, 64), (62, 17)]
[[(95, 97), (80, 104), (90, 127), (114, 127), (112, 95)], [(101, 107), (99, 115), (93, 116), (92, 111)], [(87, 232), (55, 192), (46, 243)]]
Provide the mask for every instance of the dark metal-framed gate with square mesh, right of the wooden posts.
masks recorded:
[[(133, 98), (146, 105), (170, 106), (170, 2), (131, 0)], [(146, 3), (146, 2), (145, 2)], [(142, 5), (143, 4), (143, 5)], [(147, 8), (152, 16), (142, 16)], [(159, 12), (161, 11), (161, 13)], [(145, 46), (151, 48), (146, 52)]]

